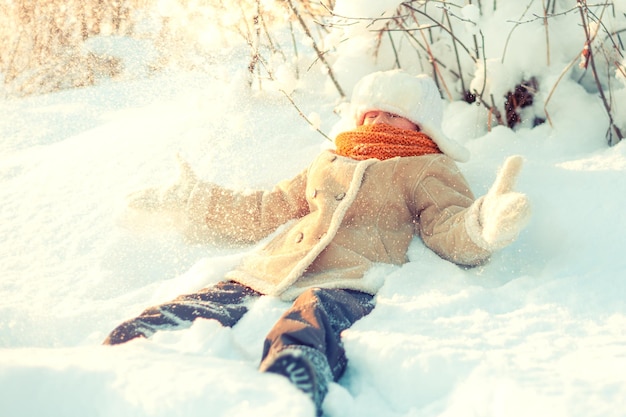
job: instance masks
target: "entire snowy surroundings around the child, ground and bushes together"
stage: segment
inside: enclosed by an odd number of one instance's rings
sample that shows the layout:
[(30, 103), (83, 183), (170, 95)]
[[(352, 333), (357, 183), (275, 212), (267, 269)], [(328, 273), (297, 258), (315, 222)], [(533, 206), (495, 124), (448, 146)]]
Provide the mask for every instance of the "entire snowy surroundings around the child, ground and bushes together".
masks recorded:
[(461, 269), (416, 239), (345, 332), (327, 416), (626, 416), (626, 2), (0, 0), (2, 416), (308, 416), (256, 364), (284, 310), (118, 348), (120, 321), (252, 248), (129, 213), (173, 155), (234, 188), (303, 169), (378, 69), (428, 73), (475, 193), (510, 154), (520, 239)]

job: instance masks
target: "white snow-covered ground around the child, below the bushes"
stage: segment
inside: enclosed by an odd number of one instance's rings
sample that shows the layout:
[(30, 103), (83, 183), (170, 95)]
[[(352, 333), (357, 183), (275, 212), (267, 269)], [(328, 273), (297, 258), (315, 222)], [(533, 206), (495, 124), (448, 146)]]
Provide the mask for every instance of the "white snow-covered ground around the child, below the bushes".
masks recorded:
[[(284, 378), (256, 370), (286, 308), (271, 297), (233, 329), (198, 321), (100, 345), (251, 250), (189, 245), (131, 216), (126, 194), (173, 180), (177, 152), (205, 180), (257, 188), (328, 146), (280, 93), (248, 89), (237, 56), (210, 75), (0, 101), (0, 415), (311, 415)], [(328, 132), (336, 97), (318, 78), (294, 98)], [(553, 127), (489, 132), (484, 109), (447, 106), (477, 195), (506, 156), (525, 157), (517, 188), (532, 221), (474, 269), (416, 239), (374, 312), (345, 332), (350, 363), (327, 416), (626, 416), (626, 143), (606, 146), (599, 99), (573, 81), (550, 109)]]

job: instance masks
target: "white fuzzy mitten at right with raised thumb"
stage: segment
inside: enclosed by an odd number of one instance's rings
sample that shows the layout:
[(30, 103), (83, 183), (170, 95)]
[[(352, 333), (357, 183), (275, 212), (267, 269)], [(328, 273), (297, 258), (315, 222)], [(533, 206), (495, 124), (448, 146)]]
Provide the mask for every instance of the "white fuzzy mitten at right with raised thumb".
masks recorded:
[(528, 198), (514, 192), (515, 180), (522, 168), (522, 157), (507, 158), (489, 192), (481, 199), (478, 221), (481, 237), (489, 250), (513, 242), (530, 219)]

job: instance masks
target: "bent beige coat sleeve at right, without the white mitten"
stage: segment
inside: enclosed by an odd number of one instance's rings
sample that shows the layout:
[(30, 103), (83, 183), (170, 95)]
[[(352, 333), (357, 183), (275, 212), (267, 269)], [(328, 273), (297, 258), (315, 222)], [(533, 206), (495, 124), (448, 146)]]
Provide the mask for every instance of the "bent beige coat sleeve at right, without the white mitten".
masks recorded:
[(440, 157), (430, 164), (414, 189), (417, 228), (430, 249), (451, 262), (473, 266), (491, 253), (472, 239), (474, 195), (452, 160)]

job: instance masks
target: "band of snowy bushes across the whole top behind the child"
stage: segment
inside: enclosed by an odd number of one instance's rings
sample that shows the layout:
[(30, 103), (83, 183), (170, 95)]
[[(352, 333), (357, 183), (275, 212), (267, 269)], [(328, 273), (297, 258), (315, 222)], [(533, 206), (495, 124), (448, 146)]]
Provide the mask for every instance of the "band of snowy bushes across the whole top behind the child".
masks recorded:
[[(626, 4), (608, 0), (143, 0), (10, 1), (0, 5), (0, 71), (8, 92), (42, 93), (102, 78), (165, 69), (210, 71), (226, 46), (249, 46), (249, 84), (291, 94), (323, 71), (339, 99), (376, 69), (404, 68), (437, 81), (442, 96), (482, 106), (483, 122), (548, 121), (567, 77), (597, 93), (607, 141), (626, 130), (618, 100), (626, 77)], [(89, 38), (115, 37), (94, 51)], [(118, 44), (140, 40), (149, 57)], [(93, 42), (90, 43), (93, 45)], [(621, 80), (621, 81), (620, 81)]]

